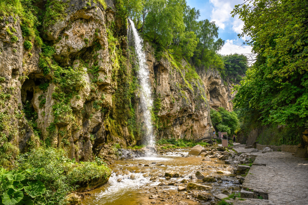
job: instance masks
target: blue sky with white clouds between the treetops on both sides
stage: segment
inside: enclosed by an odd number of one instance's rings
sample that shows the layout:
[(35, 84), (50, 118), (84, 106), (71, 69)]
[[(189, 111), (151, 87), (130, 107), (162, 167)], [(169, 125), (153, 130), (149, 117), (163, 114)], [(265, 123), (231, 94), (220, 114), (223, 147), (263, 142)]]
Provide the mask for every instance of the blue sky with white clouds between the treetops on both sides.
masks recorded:
[(242, 4), (244, 0), (186, 0), (188, 6), (200, 10), (200, 20), (209, 19), (219, 26), (219, 37), (225, 40), (225, 45), (219, 51), (221, 54), (251, 53), (251, 47), (242, 45), (245, 38), (239, 39), (243, 22), (238, 18), (232, 18), (231, 11), (234, 5)]

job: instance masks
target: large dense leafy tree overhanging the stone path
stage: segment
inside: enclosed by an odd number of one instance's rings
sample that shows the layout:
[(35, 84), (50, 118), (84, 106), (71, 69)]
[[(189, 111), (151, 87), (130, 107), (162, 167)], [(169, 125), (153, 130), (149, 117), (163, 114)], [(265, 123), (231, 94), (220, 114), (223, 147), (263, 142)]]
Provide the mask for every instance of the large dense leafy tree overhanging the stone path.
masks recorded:
[(246, 41), (257, 54), (237, 86), (235, 108), (262, 124), (303, 126), (308, 117), (308, 2), (254, 0), (237, 5)]

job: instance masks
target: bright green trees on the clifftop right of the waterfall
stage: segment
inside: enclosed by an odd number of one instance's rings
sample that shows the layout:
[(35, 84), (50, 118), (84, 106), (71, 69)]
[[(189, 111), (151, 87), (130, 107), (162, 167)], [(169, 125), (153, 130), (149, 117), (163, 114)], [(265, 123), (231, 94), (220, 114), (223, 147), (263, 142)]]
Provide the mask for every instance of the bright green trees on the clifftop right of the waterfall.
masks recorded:
[(223, 69), (217, 51), (225, 41), (218, 38), (219, 28), (207, 19), (198, 21), (200, 11), (190, 8), (185, 0), (118, 1), (123, 1), (123, 15), (135, 22), (145, 40), (178, 57), (191, 59), (197, 66)]

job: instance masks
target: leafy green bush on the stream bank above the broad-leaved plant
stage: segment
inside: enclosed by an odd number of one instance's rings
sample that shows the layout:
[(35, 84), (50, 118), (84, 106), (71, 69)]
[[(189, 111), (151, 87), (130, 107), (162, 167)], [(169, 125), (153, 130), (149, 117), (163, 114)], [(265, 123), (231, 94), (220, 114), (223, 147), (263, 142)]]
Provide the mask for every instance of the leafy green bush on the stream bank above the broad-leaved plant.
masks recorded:
[(18, 171), (26, 171), (29, 180), (40, 180), (46, 187), (43, 197), (46, 204), (65, 204), (66, 195), (81, 182), (91, 179), (107, 179), (110, 170), (101, 163), (80, 162), (66, 157), (66, 152), (55, 148), (38, 148), (20, 156)]

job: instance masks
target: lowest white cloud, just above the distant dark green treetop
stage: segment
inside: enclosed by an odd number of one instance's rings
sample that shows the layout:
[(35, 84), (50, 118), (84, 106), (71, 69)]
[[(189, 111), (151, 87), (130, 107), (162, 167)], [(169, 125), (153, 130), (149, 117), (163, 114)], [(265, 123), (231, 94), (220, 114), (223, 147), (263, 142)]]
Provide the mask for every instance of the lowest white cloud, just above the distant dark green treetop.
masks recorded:
[(225, 45), (222, 47), (219, 53), (223, 55), (229, 55), (230, 53), (251, 53), (251, 46), (242, 45), (242, 43), (240, 43), (239, 41), (226, 40)]

